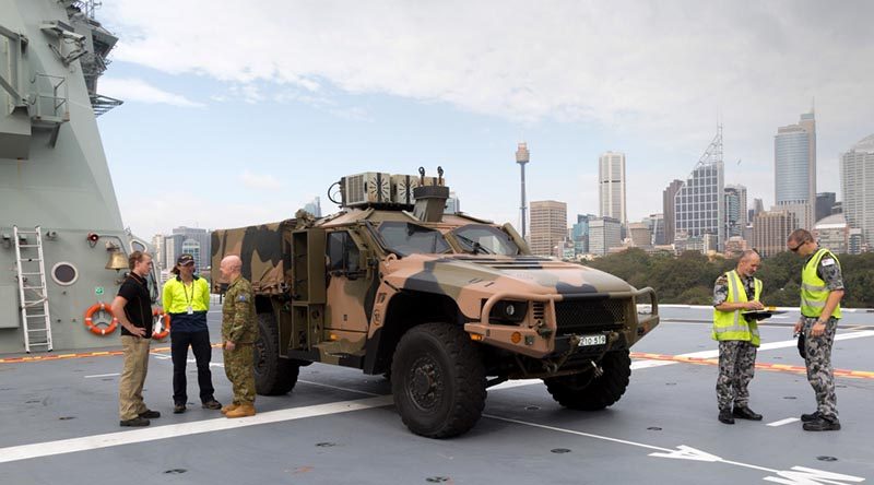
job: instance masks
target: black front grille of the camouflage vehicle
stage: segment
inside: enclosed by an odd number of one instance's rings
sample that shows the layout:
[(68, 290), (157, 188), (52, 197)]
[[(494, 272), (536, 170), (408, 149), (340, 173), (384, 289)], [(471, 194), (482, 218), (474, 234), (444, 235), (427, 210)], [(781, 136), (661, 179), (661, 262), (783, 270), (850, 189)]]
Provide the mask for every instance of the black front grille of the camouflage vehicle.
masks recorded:
[(627, 299), (570, 299), (555, 303), (558, 334), (617, 330), (625, 326)]

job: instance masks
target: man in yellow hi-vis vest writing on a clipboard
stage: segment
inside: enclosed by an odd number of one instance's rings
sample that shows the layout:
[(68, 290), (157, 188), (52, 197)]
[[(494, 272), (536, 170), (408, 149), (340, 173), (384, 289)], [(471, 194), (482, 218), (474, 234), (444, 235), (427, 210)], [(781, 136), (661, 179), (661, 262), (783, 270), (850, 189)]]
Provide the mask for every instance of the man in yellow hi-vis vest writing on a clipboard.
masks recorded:
[[(759, 301), (761, 281), (753, 277), (761, 264), (754, 250), (744, 251), (737, 268), (722, 274), (713, 286), (713, 340), (719, 341), (719, 377), (717, 403), (719, 421), (734, 424), (734, 418), (760, 421), (749, 409), (747, 386), (756, 368), (756, 350), (760, 344), (756, 320), (743, 311), (765, 308)], [(732, 409), (732, 402), (734, 409)]]

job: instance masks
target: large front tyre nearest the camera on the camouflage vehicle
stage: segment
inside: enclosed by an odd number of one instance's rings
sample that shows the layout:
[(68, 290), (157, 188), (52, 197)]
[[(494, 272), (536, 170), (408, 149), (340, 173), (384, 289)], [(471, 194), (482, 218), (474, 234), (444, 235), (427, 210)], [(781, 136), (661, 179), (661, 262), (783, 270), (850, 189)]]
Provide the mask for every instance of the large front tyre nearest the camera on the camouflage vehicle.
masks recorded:
[(485, 366), (461, 328), (424, 323), (401, 338), (391, 364), (391, 393), (416, 435), (449, 438), (472, 428), (485, 407)]

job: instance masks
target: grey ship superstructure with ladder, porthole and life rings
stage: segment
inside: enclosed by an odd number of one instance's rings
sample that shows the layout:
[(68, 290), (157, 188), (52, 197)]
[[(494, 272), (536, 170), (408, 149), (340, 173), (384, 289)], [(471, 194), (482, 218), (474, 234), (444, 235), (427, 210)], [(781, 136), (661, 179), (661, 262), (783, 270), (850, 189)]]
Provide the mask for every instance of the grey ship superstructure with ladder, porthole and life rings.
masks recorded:
[(97, 130), (121, 102), (97, 93), (117, 37), (94, 7), (0, 0), (0, 353), (117, 345), (101, 304), (146, 248), (125, 230)]

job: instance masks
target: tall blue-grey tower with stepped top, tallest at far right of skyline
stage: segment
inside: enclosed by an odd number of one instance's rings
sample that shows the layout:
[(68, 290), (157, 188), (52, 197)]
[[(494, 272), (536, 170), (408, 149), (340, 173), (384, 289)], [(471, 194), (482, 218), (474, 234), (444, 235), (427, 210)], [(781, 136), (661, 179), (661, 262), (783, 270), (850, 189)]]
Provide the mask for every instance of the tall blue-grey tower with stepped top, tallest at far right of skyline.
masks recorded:
[(811, 229), (816, 203), (816, 121), (813, 111), (798, 125), (777, 129), (773, 138), (775, 200), (793, 212), (799, 225)]

